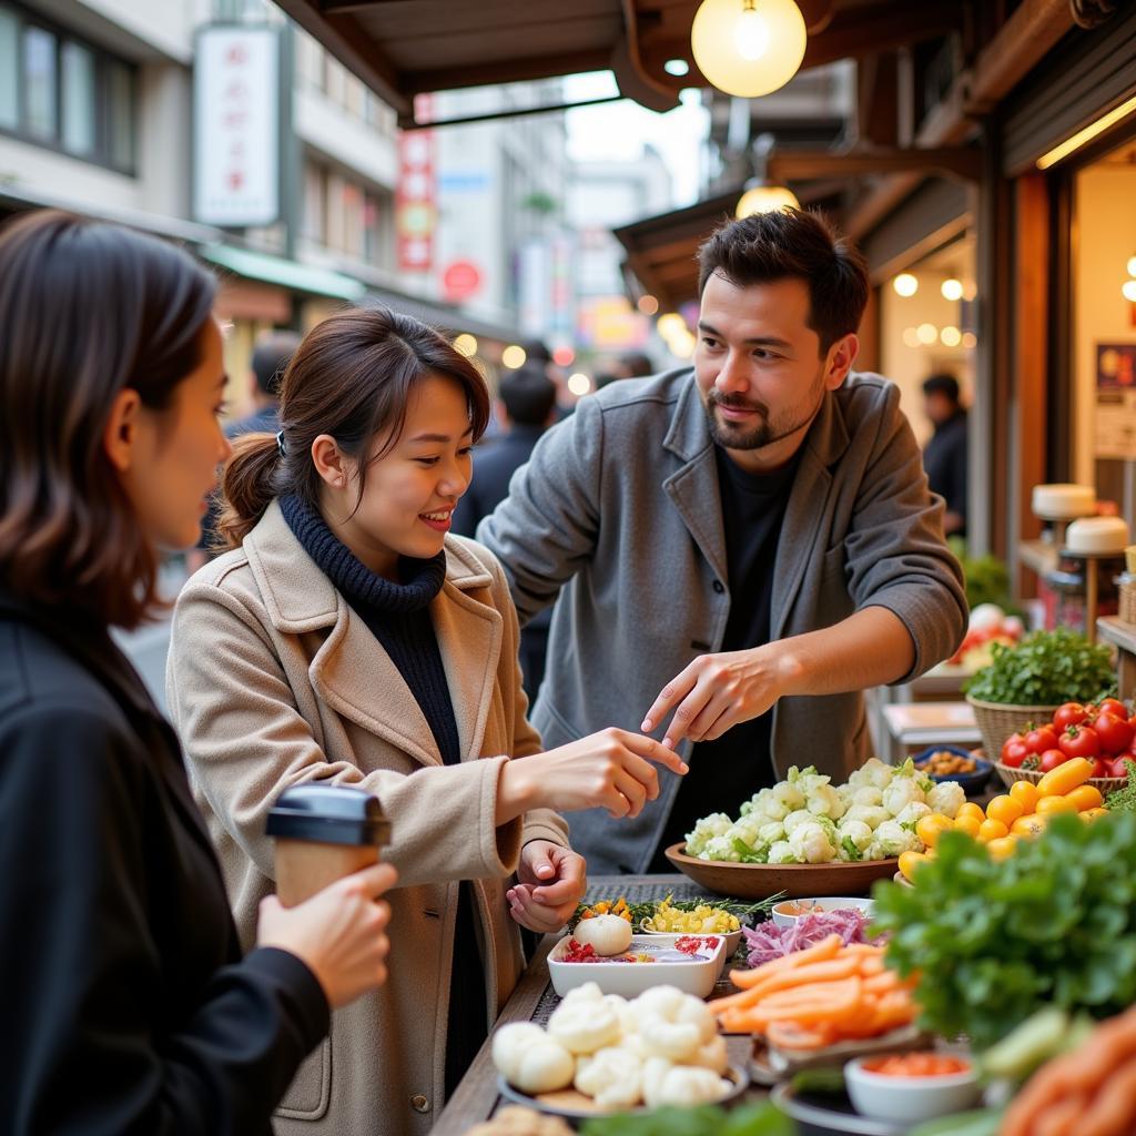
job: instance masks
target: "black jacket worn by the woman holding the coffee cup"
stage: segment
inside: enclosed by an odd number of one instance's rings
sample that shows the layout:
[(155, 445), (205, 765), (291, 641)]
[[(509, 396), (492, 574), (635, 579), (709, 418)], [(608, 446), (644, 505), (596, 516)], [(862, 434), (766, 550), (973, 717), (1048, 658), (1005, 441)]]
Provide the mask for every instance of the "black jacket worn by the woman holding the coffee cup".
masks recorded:
[(0, 1128), (265, 1134), (328, 1029), (243, 961), (177, 740), (106, 629), (0, 588)]

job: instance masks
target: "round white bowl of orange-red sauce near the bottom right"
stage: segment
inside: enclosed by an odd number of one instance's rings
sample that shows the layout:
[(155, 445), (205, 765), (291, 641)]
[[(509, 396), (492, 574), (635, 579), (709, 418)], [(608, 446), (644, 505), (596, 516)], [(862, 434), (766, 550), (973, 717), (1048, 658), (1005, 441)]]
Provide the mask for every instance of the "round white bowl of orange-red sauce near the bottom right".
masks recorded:
[(844, 1083), (866, 1117), (914, 1124), (962, 1112), (982, 1095), (978, 1070), (962, 1053), (880, 1053), (844, 1067)]

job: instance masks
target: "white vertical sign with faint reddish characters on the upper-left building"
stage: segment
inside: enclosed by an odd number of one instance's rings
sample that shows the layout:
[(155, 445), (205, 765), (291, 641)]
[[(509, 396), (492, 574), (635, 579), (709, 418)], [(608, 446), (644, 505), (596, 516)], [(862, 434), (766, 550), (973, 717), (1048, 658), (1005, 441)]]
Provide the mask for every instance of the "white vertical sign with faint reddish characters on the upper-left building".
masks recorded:
[(272, 27), (206, 27), (193, 64), (193, 216), (272, 225), (281, 212), (281, 41)]

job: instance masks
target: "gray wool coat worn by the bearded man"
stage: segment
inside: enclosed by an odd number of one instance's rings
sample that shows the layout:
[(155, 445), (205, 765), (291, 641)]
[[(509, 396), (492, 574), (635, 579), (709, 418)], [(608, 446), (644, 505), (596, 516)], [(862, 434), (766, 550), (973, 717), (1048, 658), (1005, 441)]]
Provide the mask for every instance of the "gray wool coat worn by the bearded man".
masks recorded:
[[(899, 389), (870, 374), (826, 396), (786, 508), (770, 633), (887, 608), (914, 644), (907, 682), (955, 650), (967, 603), (943, 502), (899, 403)], [(690, 367), (582, 400), (536, 444), (477, 538), (504, 566), (521, 623), (559, 596), (532, 715), (546, 749), (605, 726), (637, 730), (667, 682), (720, 649), (730, 604), (745, 602), (729, 594), (713, 442)], [(869, 750), (858, 691), (774, 709), (779, 776), (816, 765), (842, 778)], [(591, 872), (644, 870), (678, 791), (675, 775), (660, 770), (660, 782), (635, 820), (569, 818)]]

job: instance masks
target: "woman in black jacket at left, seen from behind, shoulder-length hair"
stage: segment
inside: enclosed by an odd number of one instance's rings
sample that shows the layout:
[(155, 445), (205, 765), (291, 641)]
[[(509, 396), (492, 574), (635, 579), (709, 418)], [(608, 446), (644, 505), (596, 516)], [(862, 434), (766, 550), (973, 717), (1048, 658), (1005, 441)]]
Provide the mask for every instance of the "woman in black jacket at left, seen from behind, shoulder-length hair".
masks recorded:
[(108, 628), (157, 604), (228, 452), (214, 281), (59, 212), (0, 234), (0, 1128), (267, 1133), (385, 978), (382, 864), (241, 958), (173, 730)]

